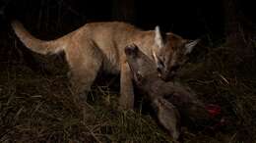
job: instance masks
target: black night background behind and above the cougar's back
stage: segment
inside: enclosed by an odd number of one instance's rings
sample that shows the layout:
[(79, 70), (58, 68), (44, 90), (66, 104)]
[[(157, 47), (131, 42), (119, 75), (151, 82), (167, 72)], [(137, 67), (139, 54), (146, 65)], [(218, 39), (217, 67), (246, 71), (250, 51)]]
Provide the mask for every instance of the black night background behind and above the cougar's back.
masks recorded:
[(242, 0), (0, 0), (0, 61), (37, 59), (24, 46), (15, 48), (14, 44), (22, 44), (14, 42), (12, 20), (44, 40), (93, 22), (123, 21), (146, 30), (160, 25), (162, 31), (200, 38), (210, 47), (225, 42), (238, 59), (245, 59), (254, 56), (255, 17), (253, 2)]

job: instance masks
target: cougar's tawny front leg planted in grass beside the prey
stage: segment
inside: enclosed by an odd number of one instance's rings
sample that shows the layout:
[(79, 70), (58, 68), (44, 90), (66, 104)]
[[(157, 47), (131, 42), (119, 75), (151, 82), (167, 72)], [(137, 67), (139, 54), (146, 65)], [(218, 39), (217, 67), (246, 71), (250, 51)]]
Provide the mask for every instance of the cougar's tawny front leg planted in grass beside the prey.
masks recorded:
[(121, 65), (121, 95), (119, 98), (119, 110), (131, 110), (134, 106), (134, 90), (132, 72), (127, 62)]

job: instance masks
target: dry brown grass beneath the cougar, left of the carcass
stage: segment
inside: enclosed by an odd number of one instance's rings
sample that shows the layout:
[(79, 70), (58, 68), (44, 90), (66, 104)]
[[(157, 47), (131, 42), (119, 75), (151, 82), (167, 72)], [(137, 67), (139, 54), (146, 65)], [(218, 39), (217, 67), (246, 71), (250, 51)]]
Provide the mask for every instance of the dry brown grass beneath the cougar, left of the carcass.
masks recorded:
[(117, 95), (104, 86), (95, 85), (97, 95), (86, 104), (72, 95), (65, 75), (16, 65), (0, 79), (0, 142), (171, 142), (149, 115), (106, 104), (107, 95)]

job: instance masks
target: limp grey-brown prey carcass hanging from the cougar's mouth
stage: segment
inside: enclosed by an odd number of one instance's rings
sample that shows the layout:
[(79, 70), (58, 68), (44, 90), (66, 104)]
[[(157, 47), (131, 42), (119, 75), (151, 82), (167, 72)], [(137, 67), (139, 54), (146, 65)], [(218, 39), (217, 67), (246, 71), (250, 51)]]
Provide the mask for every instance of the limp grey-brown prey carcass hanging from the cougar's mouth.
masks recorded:
[(163, 81), (154, 67), (154, 61), (135, 44), (127, 46), (125, 54), (136, 85), (146, 93), (161, 125), (169, 130), (172, 137), (178, 138), (179, 114), (182, 120), (190, 120), (192, 123), (211, 119), (206, 106), (192, 90), (179, 83)]

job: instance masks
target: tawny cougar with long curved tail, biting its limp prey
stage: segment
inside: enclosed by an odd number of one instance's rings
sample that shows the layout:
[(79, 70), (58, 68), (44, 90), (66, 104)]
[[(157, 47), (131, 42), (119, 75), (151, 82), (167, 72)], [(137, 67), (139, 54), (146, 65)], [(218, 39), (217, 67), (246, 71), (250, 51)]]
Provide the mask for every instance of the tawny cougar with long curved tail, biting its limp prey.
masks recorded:
[(163, 41), (163, 39), (161, 36), (155, 38), (156, 35), (160, 35), (157, 31), (144, 31), (134, 25), (120, 22), (85, 24), (63, 37), (50, 41), (35, 38), (23, 24), (17, 21), (13, 22), (12, 26), (21, 41), (33, 52), (44, 55), (65, 52), (72, 75), (71, 82), (76, 93), (89, 91), (97, 72), (101, 69), (120, 73), (119, 102), (123, 109), (131, 109), (134, 102), (132, 75), (126, 63), (124, 47), (135, 43), (151, 59), (154, 59), (153, 55), (166, 55), (171, 59), (175, 51), (185, 53), (183, 47), (187, 42), (178, 35), (168, 33), (160, 47), (158, 45), (160, 42), (156, 40)]

